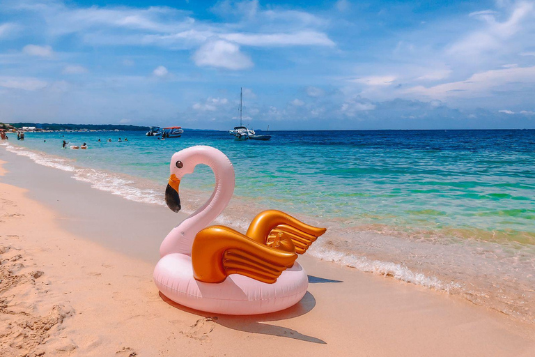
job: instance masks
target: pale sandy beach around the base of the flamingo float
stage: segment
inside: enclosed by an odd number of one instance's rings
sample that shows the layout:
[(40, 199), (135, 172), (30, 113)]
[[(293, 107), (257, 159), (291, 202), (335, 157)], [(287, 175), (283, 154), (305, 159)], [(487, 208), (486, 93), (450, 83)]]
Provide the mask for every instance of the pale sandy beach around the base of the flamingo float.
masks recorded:
[[(1, 157), (10, 171), (28, 164)], [(33, 165), (37, 181), (55, 174)], [(24, 185), (11, 174), (0, 181)], [(311, 284), (295, 307), (254, 317), (187, 310), (158, 294), (153, 254), (142, 258), (148, 247), (157, 254), (160, 231), (135, 238), (144, 217), (163, 208), (120, 197), (102, 203), (99, 195), (112, 195), (76, 187), (88, 218), (38, 202), (35, 190), (0, 183), (0, 356), (535, 356), (531, 325), (306, 255), (299, 260)], [(71, 207), (71, 195), (65, 189), (56, 200)], [(130, 220), (114, 205), (133, 207)], [(114, 218), (128, 224), (118, 229)], [(87, 228), (93, 220), (98, 239)], [(137, 248), (121, 250), (132, 237)]]

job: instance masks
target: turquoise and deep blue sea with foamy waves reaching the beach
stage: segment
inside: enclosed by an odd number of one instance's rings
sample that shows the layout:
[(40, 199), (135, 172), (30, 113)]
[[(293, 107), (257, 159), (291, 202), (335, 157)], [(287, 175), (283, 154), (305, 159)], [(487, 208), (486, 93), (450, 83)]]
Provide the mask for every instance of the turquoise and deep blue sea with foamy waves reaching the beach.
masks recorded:
[[(236, 172), (228, 224), (246, 227), (261, 209), (281, 209), (329, 228), (313, 255), (533, 321), (534, 130), (270, 134), (269, 142), (237, 142), (211, 131), (163, 141), (143, 132), (54, 132), (10, 144), (41, 163), (72, 167), (96, 188), (155, 203), (175, 151), (215, 146)], [(63, 139), (89, 149), (61, 149)], [(213, 181), (206, 167), (185, 179), (187, 209), (208, 197)]]

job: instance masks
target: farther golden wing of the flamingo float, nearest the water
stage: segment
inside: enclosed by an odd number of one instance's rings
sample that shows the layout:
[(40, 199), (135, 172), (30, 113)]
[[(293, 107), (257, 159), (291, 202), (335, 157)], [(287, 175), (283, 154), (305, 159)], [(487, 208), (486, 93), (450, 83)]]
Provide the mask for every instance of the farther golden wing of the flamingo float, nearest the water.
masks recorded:
[[(258, 243), (303, 254), (327, 229), (307, 225), (281, 211), (258, 213), (247, 229), (247, 236)], [(295, 250), (289, 250), (290, 241)]]

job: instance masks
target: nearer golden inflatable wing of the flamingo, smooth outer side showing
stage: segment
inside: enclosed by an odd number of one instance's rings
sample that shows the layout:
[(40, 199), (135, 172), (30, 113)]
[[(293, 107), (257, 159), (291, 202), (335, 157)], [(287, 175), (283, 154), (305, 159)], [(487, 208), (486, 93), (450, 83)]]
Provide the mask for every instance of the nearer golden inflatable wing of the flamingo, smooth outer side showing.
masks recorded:
[(223, 226), (199, 231), (192, 247), (193, 276), (201, 282), (223, 282), (240, 274), (272, 284), (295, 259), (295, 252), (270, 248)]

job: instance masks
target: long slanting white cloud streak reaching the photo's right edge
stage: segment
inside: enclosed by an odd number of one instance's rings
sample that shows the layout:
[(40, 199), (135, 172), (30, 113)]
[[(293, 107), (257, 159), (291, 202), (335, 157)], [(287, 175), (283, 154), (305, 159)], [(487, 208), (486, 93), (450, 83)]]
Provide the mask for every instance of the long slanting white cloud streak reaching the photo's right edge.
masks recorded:
[(517, 85), (519, 83), (535, 83), (535, 66), (533, 67), (513, 67), (499, 70), (487, 70), (476, 73), (470, 78), (459, 81), (438, 84), (437, 86), (424, 87), (414, 86), (406, 89), (405, 93), (417, 93), (431, 98), (445, 98), (462, 96), (470, 98), (489, 93), (495, 88), (501, 88), (506, 84)]

